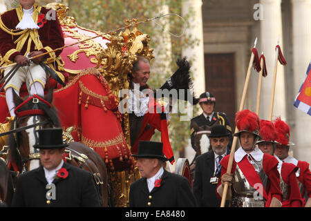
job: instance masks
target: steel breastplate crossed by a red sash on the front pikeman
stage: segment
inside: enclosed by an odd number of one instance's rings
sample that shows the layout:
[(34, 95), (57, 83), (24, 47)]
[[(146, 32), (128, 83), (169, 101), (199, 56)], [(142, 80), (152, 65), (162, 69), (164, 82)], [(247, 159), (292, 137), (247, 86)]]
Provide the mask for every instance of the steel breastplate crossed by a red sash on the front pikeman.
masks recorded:
[[(267, 186), (267, 175), (263, 171), (263, 162), (254, 161), (254, 167), (263, 182), (263, 186), (255, 186), (265, 189)], [(259, 195), (258, 191), (249, 184), (241, 169), (236, 165), (234, 171), (234, 184), (232, 184), (232, 202), (233, 207), (263, 207), (265, 206), (265, 198)]]

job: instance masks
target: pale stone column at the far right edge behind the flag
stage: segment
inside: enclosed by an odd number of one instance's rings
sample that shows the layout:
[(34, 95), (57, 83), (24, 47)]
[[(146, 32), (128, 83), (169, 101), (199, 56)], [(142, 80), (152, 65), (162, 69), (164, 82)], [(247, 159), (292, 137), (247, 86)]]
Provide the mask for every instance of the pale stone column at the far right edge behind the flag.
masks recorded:
[[(305, 79), (311, 59), (311, 0), (292, 0), (292, 42), (294, 95)], [(294, 101), (293, 101), (294, 102)], [(311, 116), (294, 108), (295, 126), (291, 128), (294, 157), (311, 163)]]

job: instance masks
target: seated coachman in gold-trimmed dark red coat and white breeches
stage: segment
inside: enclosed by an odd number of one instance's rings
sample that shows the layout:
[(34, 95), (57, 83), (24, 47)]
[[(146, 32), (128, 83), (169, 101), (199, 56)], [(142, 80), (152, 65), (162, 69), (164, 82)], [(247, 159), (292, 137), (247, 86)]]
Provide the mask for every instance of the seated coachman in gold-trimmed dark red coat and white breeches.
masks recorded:
[[(57, 79), (64, 83), (64, 75), (58, 72), (64, 63), (59, 57), (62, 50), (53, 52), (56, 48), (64, 46), (62, 28), (55, 17), (46, 19), (46, 15), (53, 15), (48, 8), (37, 6), (35, 0), (19, 0), (19, 8), (8, 10), (1, 15), (0, 21), (0, 53), (2, 56), (0, 66), (17, 63), (21, 67), (11, 79), (6, 79), (6, 101), (10, 115), (15, 116), (15, 104), (12, 93), (19, 94), (23, 83), (26, 83), (30, 95), (44, 95), (46, 84), (46, 71), (40, 65), (44, 61), (55, 71)], [(29, 61), (28, 57), (41, 55)], [(46, 67), (46, 66), (45, 66)], [(5, 68), (4, 76), (10, 73), (13, 66)], [(56, 69), (56, 70), (55, 70)]]

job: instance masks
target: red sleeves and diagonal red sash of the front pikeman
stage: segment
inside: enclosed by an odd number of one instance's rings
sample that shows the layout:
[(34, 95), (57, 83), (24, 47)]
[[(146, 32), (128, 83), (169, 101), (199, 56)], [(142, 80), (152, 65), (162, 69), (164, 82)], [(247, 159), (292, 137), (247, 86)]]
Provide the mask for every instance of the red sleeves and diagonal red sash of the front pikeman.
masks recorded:
[[(223, 160), (221, 160), (221, 176), (223, 174), (227, 173), (227, 165), (229, 162), (229, 155), (226, 155), (223, 157)], [(252, 186), (254, 189), (258, 189), (258, 184), (262, 184), (265, 186), (265, 188), (262, 190), (262, 196), (265, 199), (265, 206), (270, 206), (270, 202), (272, 198), (276, 198), (281, 202), (283, 194), (281, 193), (280, 189), (280, 174), (277, 170), (277, 164), (278, 160), (276, 160), (275, 157), (272, 155), (268, 155), (266, 153), (263, 153), (262, 157), (262, 166), (263, 171), (265, 175), (267, 175), (267, 182), (264, 185), (263, 181), (261, 180), (261, 177), (259, 177), (258, 173), (255, 171), (254, 166), (249, 162), (247, 159), (247, 155), (245, 155), (240, 162), (236, 162), (236, 160), (232, 163), (232, 170), (231, 173), (234, 174), (236, 171), (236, 168), (238, 166), (239, 169), (241, 169), (243, 175), (245, 176), (247, 182)], [(218, 181), (218, 186), (221, 185), (220, 180)], [(218, 189), (217, 186), (217, 189)], [(258, 192), (260, 193), (261, 191)], [(216, 191), (216, 194), (218, 198), (222, 198), (221, 195)], [(234, 193), (232, 193), (234, 194)]]

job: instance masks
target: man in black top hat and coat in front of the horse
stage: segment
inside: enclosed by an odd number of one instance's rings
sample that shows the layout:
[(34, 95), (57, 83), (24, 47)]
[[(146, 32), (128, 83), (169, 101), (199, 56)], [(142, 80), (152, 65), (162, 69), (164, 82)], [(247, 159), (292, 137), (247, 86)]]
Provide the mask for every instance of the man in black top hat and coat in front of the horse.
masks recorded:
[(41, 166), (19, 175), (12, 206), (100, 206), (93, 175), (63, 160), (62, 128), (38, 135)]

